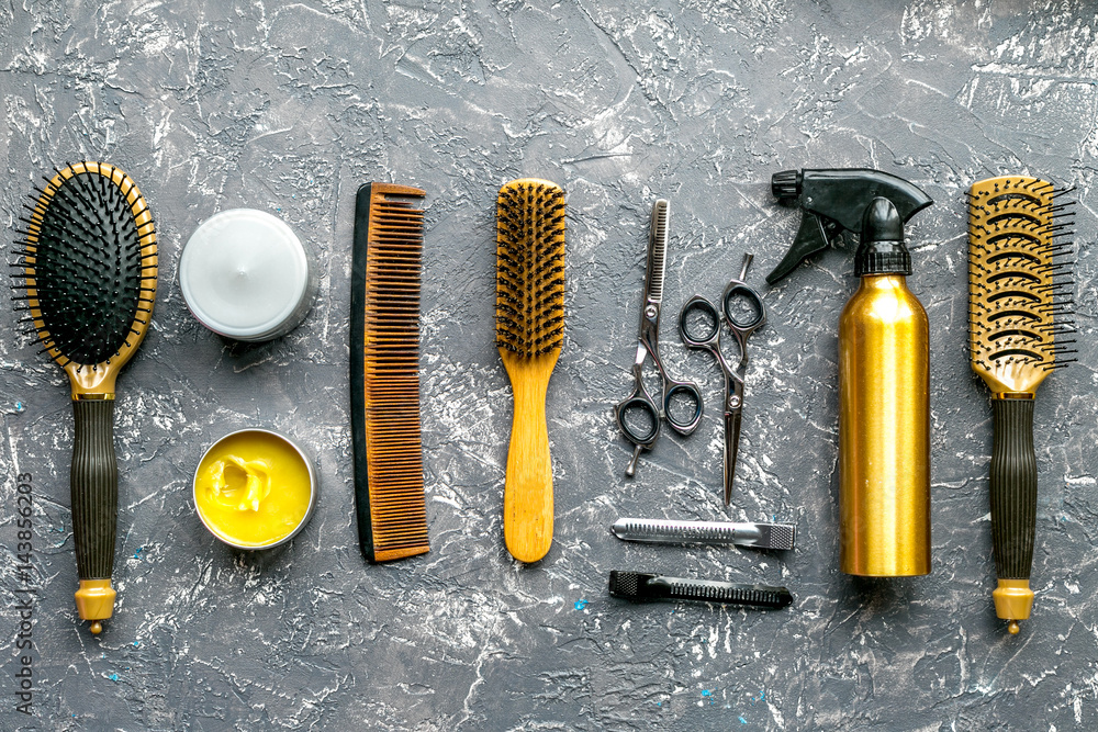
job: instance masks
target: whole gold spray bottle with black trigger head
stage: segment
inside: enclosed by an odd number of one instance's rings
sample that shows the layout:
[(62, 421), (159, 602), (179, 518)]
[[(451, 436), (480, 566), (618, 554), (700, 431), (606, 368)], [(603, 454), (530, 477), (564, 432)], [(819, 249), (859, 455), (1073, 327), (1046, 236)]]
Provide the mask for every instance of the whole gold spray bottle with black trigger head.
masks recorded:
[(805, 212), (774, 284), (844, 230), (861, 286), (839, 318), (839, 564), (847, 574), (930, 572), (930, 347), (907, 289), (904, 223), (933, 203), (877, 170), (787, 170), (771, 181)]

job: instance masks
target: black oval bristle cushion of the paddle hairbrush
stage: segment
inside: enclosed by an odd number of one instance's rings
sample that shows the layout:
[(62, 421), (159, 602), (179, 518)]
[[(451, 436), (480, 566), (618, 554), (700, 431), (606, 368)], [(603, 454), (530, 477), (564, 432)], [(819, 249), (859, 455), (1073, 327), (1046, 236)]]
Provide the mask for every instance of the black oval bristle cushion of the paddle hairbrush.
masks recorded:
[(78, 172), (40, 211), (36, 241), (24, 245), (33, 251), (21, 254), (33, 256), (25, 275), (34, 280), (42, 330), (68, 360), (102, 363), (125, 345), (141, 300), (131, 203), (110, 178)]

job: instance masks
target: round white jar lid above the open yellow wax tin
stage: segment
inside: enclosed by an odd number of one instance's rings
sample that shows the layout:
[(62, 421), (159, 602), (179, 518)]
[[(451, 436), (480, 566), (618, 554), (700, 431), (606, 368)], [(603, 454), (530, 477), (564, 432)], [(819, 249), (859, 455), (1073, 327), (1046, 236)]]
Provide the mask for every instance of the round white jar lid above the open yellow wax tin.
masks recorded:
[(267, 340), (304, 318), (315, 282), (305, 248), (285, 222), (234, 209), (211, 216), (188, 239), (179, 286), (187, 307), (214, 333)]

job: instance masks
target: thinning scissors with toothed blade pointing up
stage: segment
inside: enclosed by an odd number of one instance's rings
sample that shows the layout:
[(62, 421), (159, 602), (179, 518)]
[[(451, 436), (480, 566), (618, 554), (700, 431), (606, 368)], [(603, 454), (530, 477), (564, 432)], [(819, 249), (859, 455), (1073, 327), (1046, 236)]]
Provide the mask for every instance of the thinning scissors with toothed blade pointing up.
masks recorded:
[[(660, 359), (660, 306), (663, 303), (663, 266), (668, 252), (668, 209), (664, 199), (652, 205), (652, 225), (648, 238), (648, 270), (645, 278), (645, 307), (640, 313), (640, 340), (637, 359), (632, 364), (636, 382), (632, 394), (614, 408), (618, 426), (627, 440), (632, 442), (632, 460), (625, 474), (632, 476), (641, 450), (648, 450), (660, 436), (660, 418), (668, 420), (671, 429), (690, 435), (702, 421), (702, 392), (692, 381), (677, 381), (668, 375)], [(658, 404), (645, 386), (642, 369), (651, 356), (660, 372), (663, 403)], [(693, 414), (690, 414), (692, 404)], [(674, 408), (673, 408), (674, 407)], [(685, 412), (685, 414), (683, 414)], [(688, 417), (685, 418), (684, 417)]]

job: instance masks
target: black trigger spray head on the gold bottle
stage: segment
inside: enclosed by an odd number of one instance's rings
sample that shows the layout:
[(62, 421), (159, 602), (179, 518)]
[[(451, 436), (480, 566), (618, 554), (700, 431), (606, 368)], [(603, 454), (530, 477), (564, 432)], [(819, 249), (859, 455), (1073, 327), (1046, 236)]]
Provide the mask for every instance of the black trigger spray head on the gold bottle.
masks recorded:
[(874, 199), (892, 202), (903, 224), (933, 203), (929, 195), (898, 176), (866, 168), (783, 170), (771, 177), (780, 200), (795, 200), (804, 211), (800, 228), (785, 257), (766, 275), (774, 284), (811, 255), (827, 249), (843, 232), (860, 232), (866, 207)]

